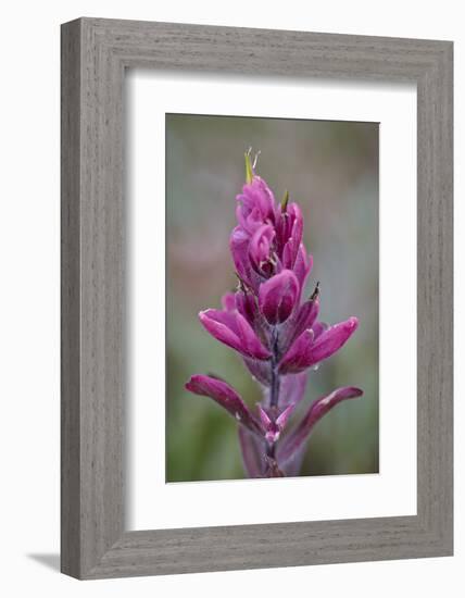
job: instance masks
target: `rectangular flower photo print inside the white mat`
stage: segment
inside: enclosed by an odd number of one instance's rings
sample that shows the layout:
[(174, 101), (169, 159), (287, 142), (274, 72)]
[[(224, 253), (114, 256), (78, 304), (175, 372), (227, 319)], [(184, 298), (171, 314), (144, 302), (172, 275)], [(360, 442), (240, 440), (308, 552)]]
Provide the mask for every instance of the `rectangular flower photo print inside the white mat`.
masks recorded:
[(377, 473), (378, 123), (165, 123), (166, 482)]

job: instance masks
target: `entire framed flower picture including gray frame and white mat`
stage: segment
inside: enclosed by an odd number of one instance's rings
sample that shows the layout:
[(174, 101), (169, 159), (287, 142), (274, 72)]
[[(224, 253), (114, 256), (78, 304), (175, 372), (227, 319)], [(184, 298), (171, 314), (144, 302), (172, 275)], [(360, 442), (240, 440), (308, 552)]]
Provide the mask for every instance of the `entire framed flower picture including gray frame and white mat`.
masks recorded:
[(62, 26), (62, 571), (453, 551), (452, 42)]

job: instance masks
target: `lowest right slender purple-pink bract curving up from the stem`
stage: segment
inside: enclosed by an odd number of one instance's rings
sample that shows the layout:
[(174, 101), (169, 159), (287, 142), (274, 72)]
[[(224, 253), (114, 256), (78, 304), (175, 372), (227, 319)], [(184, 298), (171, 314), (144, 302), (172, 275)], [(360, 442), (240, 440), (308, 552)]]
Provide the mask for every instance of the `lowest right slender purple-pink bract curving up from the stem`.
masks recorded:
[(353, 386), (345, 386), (343, 388), (337, 388), (329, 395), (321, 397), (312, 403), (306, 415), (303, 418), (298, 427), (290, 434), (278, 450), (278, 461), (285, 463), (288, 459), (301, 448), (302, 444), (309, 437), (310, 432), (318, 420), (325, 415), (330, 409), (332, 409), (340, 401), (345, 399), (355, 399), (361, 397), (363, 390)]

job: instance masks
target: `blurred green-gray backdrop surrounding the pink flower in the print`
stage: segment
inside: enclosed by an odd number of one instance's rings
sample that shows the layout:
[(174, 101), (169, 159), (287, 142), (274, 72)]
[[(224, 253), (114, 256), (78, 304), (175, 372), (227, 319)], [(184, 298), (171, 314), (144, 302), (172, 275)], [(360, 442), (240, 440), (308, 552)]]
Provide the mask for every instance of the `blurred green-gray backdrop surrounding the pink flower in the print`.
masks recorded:
[(244, 477), (236, 422), (184, 384), (213, 372), (250, 406), (260, 400), (240, 357), (197, 315), (236, 286), (228, 239), (250, 146), (276, 199), (288, 189), (302, 208), (314, 257), (307, 292), (321, 282), (321, 319), (360, 320), (311, 372), (300, 412), (338, 386), (365, 394), (315, 426), (301, 475), (378, 472), (378, 124), (166, 114), (166, 482)]

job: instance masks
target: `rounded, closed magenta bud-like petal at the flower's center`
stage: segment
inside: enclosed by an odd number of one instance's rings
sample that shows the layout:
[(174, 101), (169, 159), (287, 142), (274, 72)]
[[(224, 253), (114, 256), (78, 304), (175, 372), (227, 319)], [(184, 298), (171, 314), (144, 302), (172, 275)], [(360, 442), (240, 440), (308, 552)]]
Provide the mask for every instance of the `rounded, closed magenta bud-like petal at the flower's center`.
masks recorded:
[(260, 286), (260, 310), (269, 324), (281, 324), (292, 313), (299, 294), (296, 274), (290, 270), (282, 270)]

